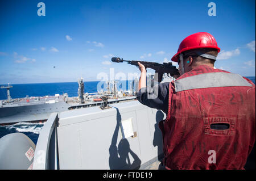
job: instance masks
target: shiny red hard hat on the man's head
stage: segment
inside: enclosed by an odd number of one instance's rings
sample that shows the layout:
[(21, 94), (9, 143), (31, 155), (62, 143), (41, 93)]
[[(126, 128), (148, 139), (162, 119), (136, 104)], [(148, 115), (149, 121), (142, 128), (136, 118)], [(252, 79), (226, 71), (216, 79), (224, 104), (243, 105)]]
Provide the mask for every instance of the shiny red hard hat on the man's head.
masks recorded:
[(183, 41), (181, 41), (179, 49), (175, 56), (172, 57), (172, 61), (177, 62), (179, 59), (179, 54), (191, 50), (191, 49), (199, 49), (199, 48), (214, 48), (220, 52), (220, 48), (218, 48), (217, 41), (214, 39), (210, 33), (207, 32), (199, 32), (194, 33), (186, 37)]

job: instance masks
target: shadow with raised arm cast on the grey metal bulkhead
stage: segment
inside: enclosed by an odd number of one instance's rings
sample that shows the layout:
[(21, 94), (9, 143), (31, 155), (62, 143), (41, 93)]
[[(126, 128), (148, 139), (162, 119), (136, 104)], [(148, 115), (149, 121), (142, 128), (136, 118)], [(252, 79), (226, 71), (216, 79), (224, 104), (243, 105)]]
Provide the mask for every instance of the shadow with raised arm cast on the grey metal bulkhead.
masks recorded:
[[(130, 149), (129, 141), (124, 138), (119, 141), (117, 147), (118, 131), (121, 123), (121, 115), (118, 108), (117, 110), (117, 124), (112, 137), (112, 142), (109, 147), (109, 167), (110, 169), (139, 169), (141, 166), (141, 159)], [(133, 157), (134, 161), (131, 163), (129, 153)]]

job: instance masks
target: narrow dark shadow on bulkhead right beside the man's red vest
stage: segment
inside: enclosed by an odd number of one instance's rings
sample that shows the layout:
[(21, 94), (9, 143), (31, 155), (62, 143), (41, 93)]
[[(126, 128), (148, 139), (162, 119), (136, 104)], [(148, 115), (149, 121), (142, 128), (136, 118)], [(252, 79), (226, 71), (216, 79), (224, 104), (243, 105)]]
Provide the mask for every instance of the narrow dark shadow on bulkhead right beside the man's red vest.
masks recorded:
[(154, 140), (153, 140), (153, 145), (158, 147), (158, 161), (162, 161), (164, 157), (162, 132), (158, 127), (158, 123), (162, 121), (163, 118), (164, 118), (163, 112), (158, 110), (155, 116), (156, 124), (155, 124)]

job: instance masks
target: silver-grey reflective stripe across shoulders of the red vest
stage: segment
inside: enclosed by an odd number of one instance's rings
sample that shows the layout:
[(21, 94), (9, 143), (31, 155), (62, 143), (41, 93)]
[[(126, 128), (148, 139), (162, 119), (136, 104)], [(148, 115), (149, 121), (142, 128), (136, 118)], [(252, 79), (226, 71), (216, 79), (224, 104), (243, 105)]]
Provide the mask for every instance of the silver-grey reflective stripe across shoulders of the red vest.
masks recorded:
[(174, 82), (175, 91), (180, 92), (190, 89), (202, 89), (210, 87), (234, 87), (234, 86), (249, 86), (241, 75), (225, 72), (204, 73), (185, 77)]

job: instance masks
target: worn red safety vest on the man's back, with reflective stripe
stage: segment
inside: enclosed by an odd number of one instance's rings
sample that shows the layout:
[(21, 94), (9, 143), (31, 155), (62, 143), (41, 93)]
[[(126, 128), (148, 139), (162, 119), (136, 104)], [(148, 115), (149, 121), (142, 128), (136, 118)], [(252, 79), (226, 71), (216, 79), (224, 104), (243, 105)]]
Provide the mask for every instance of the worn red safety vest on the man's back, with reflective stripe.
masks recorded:
[(166, 169), (243, 169), (255, 142), (255, 85), (201, 65), (170, 82), (159, 128)]

